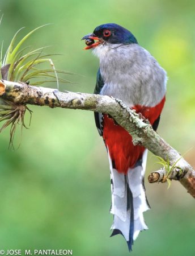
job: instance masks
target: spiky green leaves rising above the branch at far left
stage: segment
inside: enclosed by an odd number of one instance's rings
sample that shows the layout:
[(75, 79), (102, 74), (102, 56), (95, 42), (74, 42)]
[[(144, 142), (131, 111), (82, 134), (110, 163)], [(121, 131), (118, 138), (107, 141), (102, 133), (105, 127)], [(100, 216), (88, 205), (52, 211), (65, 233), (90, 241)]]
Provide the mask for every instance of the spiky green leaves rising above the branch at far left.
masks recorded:
[[(50, 69), (49, 71), (51, 73), (54, 72), (55, 76), (56, 76), (56, 82), (57, 82), (57, 87), (58, 87), (58, 72), (56, 71), (56, 68), (54, 67), (53, 61), (50, 58), (50, 56), (54, 56), (54, 55), (43, 55), (43, 50), (46, 49), (49, 46), (45, 46), (45, 47), (40, 47), (34, 50), (30, 50), (29, 52), (26, 52), (26, 50), (29, 47), (23, 48), (20, 50), (20, 47), (23, 45), (24, 42), (26, 42), (26, 40), (29, 38), (29, 36), (31, 36), (35, 31), (39, 30), (40, 28), (43, 28), (45, 26), (47, 26), (48, 24), (45, 24), (43, 26), (37, 27), (34, 30), (32, 30), (31, 32), (29, 32), (26, 36), (24, 36), (22, 38), (22, 40), (19, 41), (18, 44), (16, 44), (16, 46), (14, 47), (14, 44), (16, 42), (16, 39), (18, 37), (18, 34), (21, 30), (23, 30), (23, 28), (20, 28), (20, 30), (18, 30), (16, 32), (16, 34), (14, 35), (14, 37), (11, 40), (11, 43), (9, 45), (9, 47), (7, 48), (5, 57), (3, 58), (3, 61), (1, 61), (1, 68), (5, 67), (7, 65), (7, 72), (4, 72), (4, 74), (1, 74), (3, 79), (9, 80), (9, 81), (24, 81), (24, 77), (27, 76), (28, 73), (28, 77), (29, 79), (33, 79), (35, 78), (33, 76), (33, 73), (31, 73), (32, 68), (39, 65), (43, 64), (43, 63), (48, 63), (50, 65)], [(2, 50), (3, 50), (3, 44), (2, 44)], [(1, 60), (2, 60), (2, 50), (1, 50)], [(40, 73), (42, 73), (43, 75), (43, 69), (39, 68), (37, 69)], [(38, 72), (38, 73), (39, 73)], [(31, 75), (30, 75), (31, 73)], [(6, 77), (5, 77), (6, 74)], [(63, 74), (70, 74), (67, 71), (63, 71)], [(3, 76), (4, 75), (4, 76)], [(46, 78), (47, 76), (45, 76)], [(50, 80), (46, 80), (44, 79), (43, 81), (41, 81), (42, 83), (47, 82)], [(67, 82), (65, 79), (61, 80), (61, 82)]]

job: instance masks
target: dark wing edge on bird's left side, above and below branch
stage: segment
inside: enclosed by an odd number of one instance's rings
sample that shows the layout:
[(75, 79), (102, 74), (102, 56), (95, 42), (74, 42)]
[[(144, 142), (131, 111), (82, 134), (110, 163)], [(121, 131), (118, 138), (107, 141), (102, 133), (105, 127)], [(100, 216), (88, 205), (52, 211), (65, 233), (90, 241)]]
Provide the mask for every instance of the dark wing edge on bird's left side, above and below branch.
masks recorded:
[[(103, 88), (103, 86), (104, 86), (104, 81), (101, 77), (100, 69), (98, 69), (94, 93), (99, 94), (101, 89)], [(95, 124), (98, 129), (98, 132), (99, 132), (100, 136), (102, 136), (103, 135), (103, 114), (94, 112), (94, 117), (95, 117)]]

